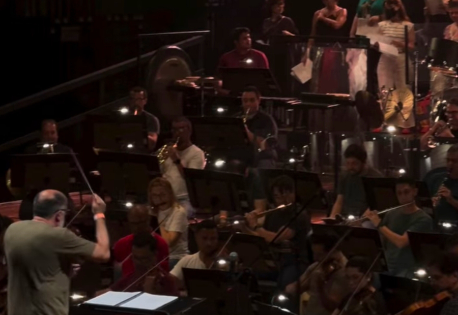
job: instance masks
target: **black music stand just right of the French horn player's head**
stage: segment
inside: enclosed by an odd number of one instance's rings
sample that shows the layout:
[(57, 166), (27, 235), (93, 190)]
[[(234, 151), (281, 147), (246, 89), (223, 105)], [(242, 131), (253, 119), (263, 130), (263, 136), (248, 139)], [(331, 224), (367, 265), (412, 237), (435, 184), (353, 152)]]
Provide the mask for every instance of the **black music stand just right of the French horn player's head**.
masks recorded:
[(194, 143), (203, 148), (240, 148), (248, 146), (248, 137), (241, 118), (189, 117)]

